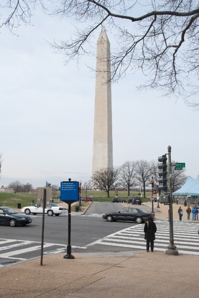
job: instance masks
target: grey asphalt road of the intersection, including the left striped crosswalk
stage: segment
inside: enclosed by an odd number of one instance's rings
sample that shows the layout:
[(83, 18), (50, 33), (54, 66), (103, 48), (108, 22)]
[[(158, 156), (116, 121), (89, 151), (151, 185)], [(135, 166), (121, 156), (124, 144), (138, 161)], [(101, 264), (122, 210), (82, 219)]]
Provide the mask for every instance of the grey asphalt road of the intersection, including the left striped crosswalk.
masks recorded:
[[(74, 252), (121, 251), (120, 246), (91, 244), (107, 235), (134, 225), (131, 222), (107, 222), (102, 219), (105, 211), (123, 207), (117, 203), (93, 203), (84, 215), (71, 216), (71, 246)], [(32, 216), (32, 215), (31, 215)], [(0, 260), (18, 262), (41, 254), (42, 215), (32, 216), (33, 222), (26, 226), (0, 226)], [(45, 216), (44, 253), (66, 251), (68, 244), (68, 216)], [(130, 250), (130, 248), (125, 249)]]

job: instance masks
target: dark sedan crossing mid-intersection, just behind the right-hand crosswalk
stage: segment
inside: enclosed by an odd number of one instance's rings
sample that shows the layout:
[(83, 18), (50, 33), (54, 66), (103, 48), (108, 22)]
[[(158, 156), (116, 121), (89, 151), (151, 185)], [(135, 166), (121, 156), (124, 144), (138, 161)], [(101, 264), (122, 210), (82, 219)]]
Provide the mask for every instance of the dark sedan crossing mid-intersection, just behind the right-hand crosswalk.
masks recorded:
[(141, 224), (146, 222), (149, 216), (155, 219), (154, 213), (144, 211), (140, 208), (126, 207), (117, 212), (103, 213), (102, 218), (108, 222), (131, 221)]

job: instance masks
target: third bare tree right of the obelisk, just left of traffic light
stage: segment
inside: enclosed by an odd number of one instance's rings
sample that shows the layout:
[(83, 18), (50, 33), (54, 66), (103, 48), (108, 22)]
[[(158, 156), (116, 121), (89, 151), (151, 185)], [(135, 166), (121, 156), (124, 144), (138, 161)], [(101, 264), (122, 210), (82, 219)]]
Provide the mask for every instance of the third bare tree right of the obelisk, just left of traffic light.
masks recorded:
[(136, 161), (136, 179), (143, 184), (144, 198), (146, 197), (145, 187), (149, 182), (149, 178), (151, 177), (151, 163), (147, 160), (137, 160)]

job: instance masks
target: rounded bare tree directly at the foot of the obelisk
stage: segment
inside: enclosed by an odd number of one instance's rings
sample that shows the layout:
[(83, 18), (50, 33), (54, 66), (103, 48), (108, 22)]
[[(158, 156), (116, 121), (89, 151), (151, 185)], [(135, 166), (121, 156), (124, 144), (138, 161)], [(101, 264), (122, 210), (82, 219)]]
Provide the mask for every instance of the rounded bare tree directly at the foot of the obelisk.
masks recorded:
[(118, 186), (118, 173), (118, 168), (102, 168), (92, 175), (92, 183), (96, 188), (104, 190), (109, 198), (110, 190)]

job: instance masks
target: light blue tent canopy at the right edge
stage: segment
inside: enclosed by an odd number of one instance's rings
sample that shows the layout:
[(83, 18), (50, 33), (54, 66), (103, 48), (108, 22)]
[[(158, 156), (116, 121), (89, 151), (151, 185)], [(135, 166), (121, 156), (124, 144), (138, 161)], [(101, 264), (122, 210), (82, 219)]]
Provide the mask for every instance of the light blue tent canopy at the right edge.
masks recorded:
[(199, 175), (196, 179), (189, 176), (185, 184), (177, 191), (173, 192), (176, 196), (199, 196)]

